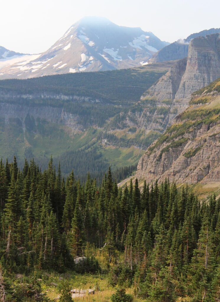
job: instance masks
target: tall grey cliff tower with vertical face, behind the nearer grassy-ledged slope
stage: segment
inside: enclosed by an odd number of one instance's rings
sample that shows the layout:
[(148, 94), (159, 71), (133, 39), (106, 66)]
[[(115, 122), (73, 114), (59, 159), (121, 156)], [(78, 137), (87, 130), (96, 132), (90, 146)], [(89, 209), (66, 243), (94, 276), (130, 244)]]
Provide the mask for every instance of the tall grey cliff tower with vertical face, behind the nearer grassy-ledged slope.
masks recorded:
[[(220, 76), (220, 34), (198, 37), (189, 44), (188, 57), (171, 69), (141, 97), (149, 113), (147, 129), (163, 132), (183, 112), (190, 95)], [(145, 111), (146, 111), (145, 110)], [(160, 114), (163, 113), (163, 114)]]

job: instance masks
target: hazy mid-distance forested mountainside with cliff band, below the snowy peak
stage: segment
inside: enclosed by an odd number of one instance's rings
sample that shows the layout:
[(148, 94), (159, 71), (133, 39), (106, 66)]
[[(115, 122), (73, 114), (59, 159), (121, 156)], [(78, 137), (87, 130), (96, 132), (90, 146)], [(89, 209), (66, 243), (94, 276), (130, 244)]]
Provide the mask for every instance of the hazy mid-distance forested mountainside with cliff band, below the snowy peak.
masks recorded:
[(97, 181), (109, 165), (134, 165), (159, 135), (146, 133), (136, 103), (171, 65), (0, 81), (2, 158), (45, 169), (52, 154), (63, 173)]

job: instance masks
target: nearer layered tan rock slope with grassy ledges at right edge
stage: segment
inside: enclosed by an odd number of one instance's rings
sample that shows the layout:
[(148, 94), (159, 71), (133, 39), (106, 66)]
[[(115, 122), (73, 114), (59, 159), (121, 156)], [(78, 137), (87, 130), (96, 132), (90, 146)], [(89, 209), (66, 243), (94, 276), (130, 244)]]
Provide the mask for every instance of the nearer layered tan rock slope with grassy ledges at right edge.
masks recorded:
[(193, 93), (187, 108), (154, 142), (138, 164), (147, 182), (219, 182), (220, 79)]

